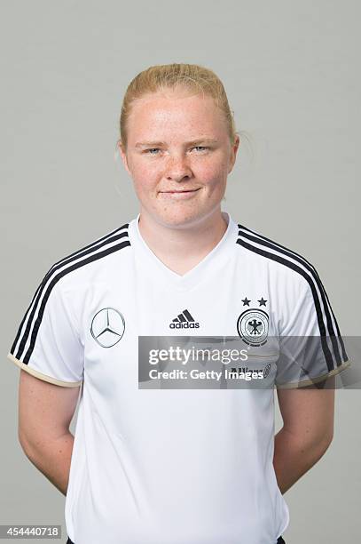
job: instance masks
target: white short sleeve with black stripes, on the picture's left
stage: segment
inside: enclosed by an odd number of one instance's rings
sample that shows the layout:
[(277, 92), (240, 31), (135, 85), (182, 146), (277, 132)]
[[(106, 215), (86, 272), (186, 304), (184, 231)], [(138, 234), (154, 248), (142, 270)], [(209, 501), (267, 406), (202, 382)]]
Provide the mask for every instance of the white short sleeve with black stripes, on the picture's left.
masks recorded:
[(20, 323), (8, 358), (40, 380), (68, 388), (80, 386), (83, 346), (73, 312), (61, 278), (47, 273)]

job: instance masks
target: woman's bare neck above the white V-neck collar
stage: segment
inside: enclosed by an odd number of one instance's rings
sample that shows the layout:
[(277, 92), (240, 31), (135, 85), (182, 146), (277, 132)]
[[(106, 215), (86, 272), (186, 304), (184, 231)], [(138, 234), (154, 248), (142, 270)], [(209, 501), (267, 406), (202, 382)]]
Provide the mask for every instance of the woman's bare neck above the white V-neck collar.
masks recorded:
[(145, 243), (167, 267), (183, 275), (195, 267), (224, 236), (227, 223), (217, 208), (189, 227), (172, 227), (141, 209), (138, 228)]

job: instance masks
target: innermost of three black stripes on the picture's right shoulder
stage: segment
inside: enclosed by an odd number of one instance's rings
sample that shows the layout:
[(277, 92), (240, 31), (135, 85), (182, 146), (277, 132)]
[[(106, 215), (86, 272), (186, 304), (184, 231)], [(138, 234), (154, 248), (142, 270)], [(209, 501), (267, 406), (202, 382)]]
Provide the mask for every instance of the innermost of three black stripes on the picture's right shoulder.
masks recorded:
[[(327, 342), (326, 342), (326, 328), (325, 328), (325, 324), (324, 324), (324, 321), (323, 321), (323, 318), (322, 318), (322, 310), (321, 310), (321, 307), (320, 307), (320, 304), (319, 304), (318, 294), (316, 292), (315, 285), (313, 284), (313, 282), (310, 279), (309, 274), (307, 274), (307, 272), (305, 272), (302, 268), (295, 265), (293, 262), (290, 262), (289, 260), (286, 260), (283, 257), (279, 257), (279, 255), (274, 255), (273, 253), (265, 252), (262, 249), (260, 249), (258, 247), (255, 247), (255, 246), (253, 246), (251, 244), (247, 244), (247, 242), (245, 242), (242, 239), (238, 239), (237, 244), (242, 245), (243, 247), (250, 250), (251, 252), (255, 252), (255, 253), (258, 253), (259, 255), (263, 255), (263, 257), (267, 257), (268, 259), (271, 259), (271, 260), (276, 260), (277, 262), (285, 265), (286, 267), (292, 268), (295, 272), (298, 272), (299, 274), (301, 274), (301, 276), (303, 276), (305, 278), (305, 280), (310, 285), (310, 289), (311, 289), (311, 292), (312, 292), (312, 295), (313, 295), (313, 300), (315, 302), (316, 315), (318, 317), (318, 328), (319, 328), (319, 332), (320, 332), (321, 345), (322, 345), (323, 352), (325, 354), (327, 368), (328, 368), (328, 371), (334, 370), (333, 357), (332, 357), (332, 354), (331, 354), (330, 349), (328, 348), (328, 345), (327, 345)], [(334, 345), (334, 342), (333, 342), (333, 345)], [(335, 350), (336, 363), (337, 363), (337, 366), (339, 366), (340, 364), (342, 364), (343, 361), (341, 361), (340, 352), (339, 352), (337, 343), (336, 343), (336, 348), (337, 348), (337, 350)]]

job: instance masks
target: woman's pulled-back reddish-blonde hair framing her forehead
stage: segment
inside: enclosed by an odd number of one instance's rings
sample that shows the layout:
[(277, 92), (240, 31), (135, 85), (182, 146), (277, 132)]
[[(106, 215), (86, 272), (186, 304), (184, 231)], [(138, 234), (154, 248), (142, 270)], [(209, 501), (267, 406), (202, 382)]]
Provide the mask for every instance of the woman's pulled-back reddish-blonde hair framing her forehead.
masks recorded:
[(198, 64), (161, 64), (151, 66), (137, 74), (125, 92), (119, 124), (121, 137), (118, 140), (123, 149), (127, 148), (127, 122), (133, 101), (150, 92), (175, 89), (177, 86), (190, 92), (202, 92), (203, 95), (211, 96), (224, 113), (228, 134), (231, 143), (234, 143), (238, 132), (236, 132), (233, 112), (230, 109), (224, 85), (215, 72)]

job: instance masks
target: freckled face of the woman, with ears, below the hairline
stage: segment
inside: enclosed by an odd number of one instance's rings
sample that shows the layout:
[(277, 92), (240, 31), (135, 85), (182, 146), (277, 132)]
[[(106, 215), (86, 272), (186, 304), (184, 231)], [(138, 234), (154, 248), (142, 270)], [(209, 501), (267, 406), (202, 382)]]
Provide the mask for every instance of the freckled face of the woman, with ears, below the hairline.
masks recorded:
[(238, 147), (211, 97), (167, 90), (133, 102), (120, 152), (141, 213), (182, 228), (220, 210)]

